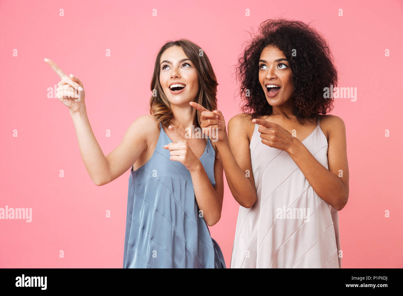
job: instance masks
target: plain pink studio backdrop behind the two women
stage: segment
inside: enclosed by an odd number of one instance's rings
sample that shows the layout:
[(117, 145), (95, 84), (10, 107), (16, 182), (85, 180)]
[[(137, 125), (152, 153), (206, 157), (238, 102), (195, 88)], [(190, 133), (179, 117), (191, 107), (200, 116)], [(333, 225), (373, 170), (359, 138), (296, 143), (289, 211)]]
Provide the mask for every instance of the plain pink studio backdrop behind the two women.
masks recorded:
[[(130, 172), (104, 186), (93, 184), (69, 110), (47, 97), (60, 79), (45, 57), (83, 81), (91, 127), (107, 155), (130, 124), (148, 114), (154, 61), (165, 41), (188, 38), (204, 49), (228, 122), (239, 113), (233, 65), (247, 31), (280, 16), (312, 21), (330, 43), (339, 86), (357, 87), (357, 101), (336, 99), (331, 113), (347, 128), (350, 194), (339, 213), (343, 268), (403, 267), (402, 3), (0, 1), (0, 207), (33, 211), (31, 223), (0, 220), (0, 267), (123, 265)], [(18, 137), (12, 136), (15, 129)], [(222, 217), (210, 231), (230, 267), (239, 205), (224, 183)]]

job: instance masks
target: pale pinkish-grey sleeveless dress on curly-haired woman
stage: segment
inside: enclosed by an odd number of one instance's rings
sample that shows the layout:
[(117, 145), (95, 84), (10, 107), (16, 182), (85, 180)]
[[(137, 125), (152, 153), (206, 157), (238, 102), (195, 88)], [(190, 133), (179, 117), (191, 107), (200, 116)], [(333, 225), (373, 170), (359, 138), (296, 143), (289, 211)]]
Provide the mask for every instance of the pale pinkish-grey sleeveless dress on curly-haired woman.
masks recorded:
[[(249, 209), (239, 207), (231, 268), (341, 268), (339, 212), (287, 152), (261, 142), (258, 128), (249, 146), (258, 199)], [(329, 169), (320, 116), (302, 143)]]

